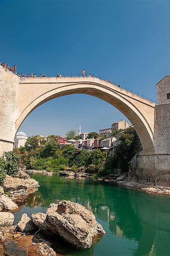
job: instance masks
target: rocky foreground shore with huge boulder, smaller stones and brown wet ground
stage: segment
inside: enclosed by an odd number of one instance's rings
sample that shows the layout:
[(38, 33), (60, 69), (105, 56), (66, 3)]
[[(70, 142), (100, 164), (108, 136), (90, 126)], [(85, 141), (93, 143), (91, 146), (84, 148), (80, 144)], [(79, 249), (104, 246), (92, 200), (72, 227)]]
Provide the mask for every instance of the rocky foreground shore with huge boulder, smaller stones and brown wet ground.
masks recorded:
[[(91, 211), (81, 204), (65, 200), (50, 204), (46, 213), (32, 214), (31, 219), (24, 213), (15, 226), (12, 213), (1, 212), (0, 218), (0, 242), (4, 243), (4, 249), (6, 244), (16, 244), (17, 248), (19, 246), (25, 250), (25, 254), (21, 254), (25, 256), (59, 255), (53, 250), (51, 243), (42, 238), (42, 232), (55, 242), (62, 238), (79, 249), (90, 248), (93, 243), (101, 241), (105, 234)], [(38, 232), (41, 234), (37, 235)], [(2, 255), (7, 255), (7, 251), (4, 250)]]

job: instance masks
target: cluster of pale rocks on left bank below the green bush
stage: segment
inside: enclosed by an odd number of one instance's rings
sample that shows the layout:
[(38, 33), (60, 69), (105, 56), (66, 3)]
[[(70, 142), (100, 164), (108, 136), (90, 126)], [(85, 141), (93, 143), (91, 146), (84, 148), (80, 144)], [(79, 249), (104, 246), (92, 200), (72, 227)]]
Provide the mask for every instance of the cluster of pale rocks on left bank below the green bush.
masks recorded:
[(4, 188), (0, 187), (0, 211), (14, 211), (18, 209), (18, 203), (26, 199), (30, 194), (38, 190), (38, 181), (31, 179), (28, 174), (20, 171), (19, 178), (6, 175)]

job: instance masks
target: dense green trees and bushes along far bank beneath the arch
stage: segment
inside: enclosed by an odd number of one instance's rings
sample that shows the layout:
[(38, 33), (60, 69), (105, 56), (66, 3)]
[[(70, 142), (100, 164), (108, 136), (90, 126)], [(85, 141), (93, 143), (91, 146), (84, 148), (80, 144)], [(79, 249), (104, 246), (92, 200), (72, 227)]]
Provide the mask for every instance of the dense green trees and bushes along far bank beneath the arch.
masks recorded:
[[(116, 137), (119, 132), (120, 130), (114, 131), (112, 136)], [(29, 137), (25, 146), (15, 148), (14, 152), (18, 159), (21, 159), (20, 163), (28, 170), (59, 172), (70, 168), (71, 171), (76, 172), (79, 167), (84, 166), (85, 172), (93, 174), (95, 178), (115, 174), (118, 171), (119, 174), (128, 172), (128, 163), (140, 149), (140, 140), (133, 127), (124, 130), (119, 137), (122, 143), (115, 147), (113, 154), (98, 149), (92, 152), (79, 150), (72, 144), (63, 145), (59, 150), (58, 137), (59, 135), (49, 135), (48, 143), (39, 135)]]

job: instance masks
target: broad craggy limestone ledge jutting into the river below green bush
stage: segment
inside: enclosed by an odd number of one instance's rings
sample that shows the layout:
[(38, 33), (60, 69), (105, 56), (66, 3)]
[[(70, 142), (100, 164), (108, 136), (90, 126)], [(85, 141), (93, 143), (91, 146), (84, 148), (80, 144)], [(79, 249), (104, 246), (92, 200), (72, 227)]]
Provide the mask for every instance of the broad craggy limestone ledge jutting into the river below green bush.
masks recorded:
[(38, 189), (38, 181), (34, 179), (19, 179), (6, 175), (4, 188), (11, 193), (13, 200), (23, 201), (28, 194)]

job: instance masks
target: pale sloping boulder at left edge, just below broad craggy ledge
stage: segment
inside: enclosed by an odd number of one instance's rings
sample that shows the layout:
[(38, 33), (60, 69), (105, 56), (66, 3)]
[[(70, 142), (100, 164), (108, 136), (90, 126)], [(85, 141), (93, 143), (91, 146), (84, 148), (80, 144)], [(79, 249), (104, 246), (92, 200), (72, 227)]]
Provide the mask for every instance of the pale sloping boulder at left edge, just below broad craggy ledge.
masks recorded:
[(13, 211), (18, 209), (18, 205), (15, 204), (11, 198), (4, 195), (4, 189), (0, 187), (0, 211), (6, 209), (8, 211)]

